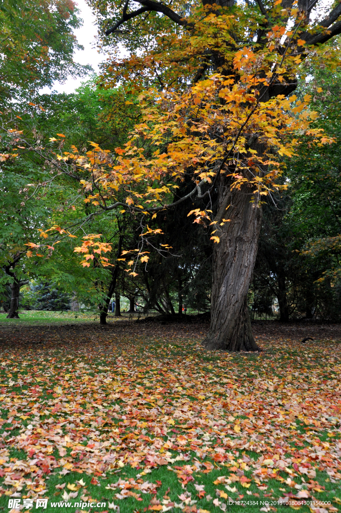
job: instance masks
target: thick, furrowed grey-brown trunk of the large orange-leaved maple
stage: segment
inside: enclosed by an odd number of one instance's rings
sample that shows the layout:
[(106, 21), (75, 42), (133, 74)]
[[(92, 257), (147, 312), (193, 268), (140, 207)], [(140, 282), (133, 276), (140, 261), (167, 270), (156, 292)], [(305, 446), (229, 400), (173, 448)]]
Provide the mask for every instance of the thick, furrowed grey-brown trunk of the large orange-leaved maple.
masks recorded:
[[(244, 186), (232, 194), (229, 189), (220, 187), (216, 226), (221, 231), (215, 233), (220, 242), (214, 244), (213, 250), (211, 326), (203, 344), (207, 349), (258, 351), (247, 297), (257, 254), (261, 210), (256, 202), (252, 203), (250, 188)], [(222, 218), (231, 221), (220, 227)]]

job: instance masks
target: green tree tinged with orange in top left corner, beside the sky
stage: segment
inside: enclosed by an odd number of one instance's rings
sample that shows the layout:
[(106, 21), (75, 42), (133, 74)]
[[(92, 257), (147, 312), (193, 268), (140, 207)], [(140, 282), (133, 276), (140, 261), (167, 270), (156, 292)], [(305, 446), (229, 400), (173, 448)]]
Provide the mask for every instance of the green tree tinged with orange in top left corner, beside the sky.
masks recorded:
[(81, 26), (72, 0), (2, 0), (0, 4), (0, 103), (10, 105), (53, 81), (82, 76), (91, 67), (73, 61), (83, 47), (73, 30)]

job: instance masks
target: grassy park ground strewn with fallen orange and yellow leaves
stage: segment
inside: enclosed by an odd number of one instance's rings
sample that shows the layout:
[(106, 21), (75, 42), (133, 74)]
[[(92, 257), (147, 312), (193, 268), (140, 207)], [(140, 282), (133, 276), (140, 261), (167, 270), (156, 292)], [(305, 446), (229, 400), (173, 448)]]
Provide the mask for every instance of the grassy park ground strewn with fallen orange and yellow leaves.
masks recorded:
[(208, 326), (1, 315), (0, 511), (341, 510), (341, 326)]

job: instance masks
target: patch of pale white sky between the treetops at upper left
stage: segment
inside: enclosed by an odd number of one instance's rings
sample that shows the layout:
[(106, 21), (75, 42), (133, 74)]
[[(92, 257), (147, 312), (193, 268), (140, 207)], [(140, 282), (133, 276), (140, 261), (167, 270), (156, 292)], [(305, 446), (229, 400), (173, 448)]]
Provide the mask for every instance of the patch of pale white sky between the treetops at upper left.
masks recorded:
[[(74, 52), (74, 62), (80, 64), (90, 64), (95, 72), (99, 72), (98, 65), (105, 60), (105, 55), (100, 55), (94, 47), (94, 36), (97, 34), (97, 28), (95, 26), (95, 18), (91, 12), (89, 6), (85, 3), (85, 0), (77, 0), (78, 8), (80, 9), (80, 17), (83, 19), (83, 26), (80, 29), (74, 31), (78, 42), (84, 46), (84, 50), (77, 50)], [(64, 84), (54, 82), (52, 88), (44, 87), (40, 90), (40, 93), (49, 93), (51, 90), (65, 93), (74, 92), (82, 82), (86, 81), (86, 77), (77, 78), (73, 80), (69, 77)]]

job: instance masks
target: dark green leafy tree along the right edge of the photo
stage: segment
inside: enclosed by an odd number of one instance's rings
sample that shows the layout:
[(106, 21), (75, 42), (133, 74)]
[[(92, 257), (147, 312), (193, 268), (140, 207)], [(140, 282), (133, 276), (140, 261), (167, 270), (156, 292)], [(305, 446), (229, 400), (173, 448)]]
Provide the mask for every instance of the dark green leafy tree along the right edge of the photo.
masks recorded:
[[(339, 38), (335, 45), (339, 44)], [(305, 63), (312, 77), (300, 85), (300, 94), (313, 95), (319, 113), (314, 122), (324, 133), (333, 135), (337, 144), (319, 151), (303, 140), (301, 150), (288, 163), (292, 208), (290, 221), (296, 226), (302, 274), (302, 296), (298, 304), (308, 318), (339, 319), (340, 310), (340, 229), (341, 188), (339, 170), (341, 153), (341, 111), (339, 108), (339, 68), (330, 70), (323, 62)]]

